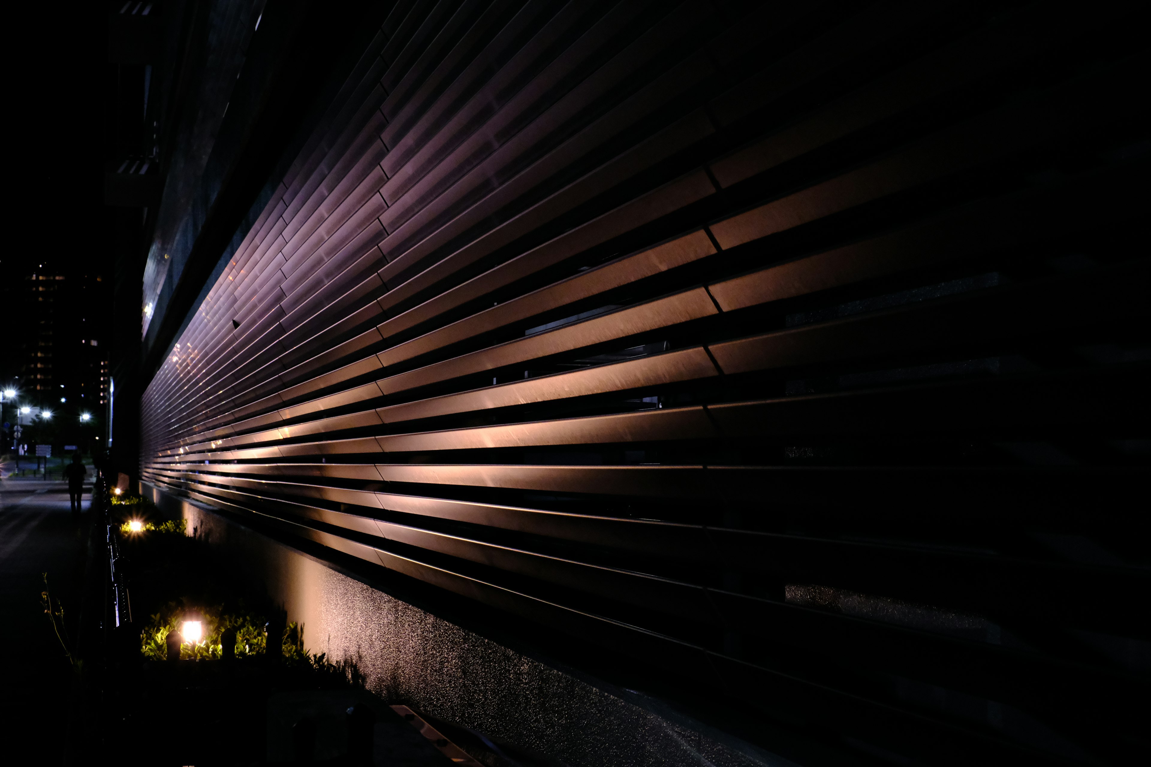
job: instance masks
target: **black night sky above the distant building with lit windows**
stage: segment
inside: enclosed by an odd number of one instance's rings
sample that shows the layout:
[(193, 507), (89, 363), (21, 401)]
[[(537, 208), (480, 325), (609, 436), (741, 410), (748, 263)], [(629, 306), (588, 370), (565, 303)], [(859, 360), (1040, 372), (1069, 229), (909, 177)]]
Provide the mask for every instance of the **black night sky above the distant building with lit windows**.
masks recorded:
[[(102, 3), (13, 7), (8, 98), (10, 178), (8, 232), (0, 248), (0, 378), (18, 365), (20, 316), (14, 289), (37, 264), (63, 273), (107, 263), (102, 169), (107, 144), (107, 21)], [(114, 79), (113, 79), (114, 82)], [(99, 307), (92, 307), (93, 310)]]

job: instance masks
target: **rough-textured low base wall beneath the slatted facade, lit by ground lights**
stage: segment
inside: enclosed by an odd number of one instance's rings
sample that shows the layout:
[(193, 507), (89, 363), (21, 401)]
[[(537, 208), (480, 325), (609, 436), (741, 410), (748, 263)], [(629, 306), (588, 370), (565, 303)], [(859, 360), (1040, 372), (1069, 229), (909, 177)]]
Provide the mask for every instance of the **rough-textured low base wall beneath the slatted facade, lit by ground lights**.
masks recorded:
[(388, 701), (573, 766), (792, 764), (660, 701), (525, 657), (203, 505), (151, 485), (142, 491), (261, 582), (288, 620), (304, 626), (311, 652), (355, 661), (368, 689)]

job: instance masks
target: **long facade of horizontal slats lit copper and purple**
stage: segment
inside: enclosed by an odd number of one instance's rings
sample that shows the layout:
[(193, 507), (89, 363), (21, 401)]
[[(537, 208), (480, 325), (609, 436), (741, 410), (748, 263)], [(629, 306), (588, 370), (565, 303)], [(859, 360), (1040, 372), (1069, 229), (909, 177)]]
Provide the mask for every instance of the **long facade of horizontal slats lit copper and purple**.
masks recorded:
[(843, 757), (1133, 764), (1148, 48), (1064, 10), (397, 2), (143, 475)]

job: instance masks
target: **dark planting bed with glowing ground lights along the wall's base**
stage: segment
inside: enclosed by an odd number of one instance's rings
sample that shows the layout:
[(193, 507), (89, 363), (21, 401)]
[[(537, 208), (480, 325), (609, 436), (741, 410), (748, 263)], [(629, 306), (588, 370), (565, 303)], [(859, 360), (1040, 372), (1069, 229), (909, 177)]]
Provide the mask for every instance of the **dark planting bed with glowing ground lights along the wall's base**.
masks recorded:
[(481, 764), (369, 693), (355, 665), (308, 652), (303, 627), (287, 622), (207, 542), (189, 536), (183, 520), (161, 520), (138, 496), (109, 500), (108, 529), (117, 567), (129, 573), (135, 620), (108, 643), (108, 760)]

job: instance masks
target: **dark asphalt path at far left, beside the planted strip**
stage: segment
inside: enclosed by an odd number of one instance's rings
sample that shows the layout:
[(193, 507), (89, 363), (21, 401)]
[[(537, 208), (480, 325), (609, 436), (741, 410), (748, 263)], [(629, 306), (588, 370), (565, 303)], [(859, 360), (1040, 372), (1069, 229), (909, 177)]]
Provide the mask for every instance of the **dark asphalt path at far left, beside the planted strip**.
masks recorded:
[(89, 503), (85, 492), (84, 513), (75, 516), (63, 482), (0, 480), (0, 737), (30, 749), (20, 764), (63, 760), (75, 675), (40, 592), (47, 573), (74, 641)]

